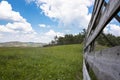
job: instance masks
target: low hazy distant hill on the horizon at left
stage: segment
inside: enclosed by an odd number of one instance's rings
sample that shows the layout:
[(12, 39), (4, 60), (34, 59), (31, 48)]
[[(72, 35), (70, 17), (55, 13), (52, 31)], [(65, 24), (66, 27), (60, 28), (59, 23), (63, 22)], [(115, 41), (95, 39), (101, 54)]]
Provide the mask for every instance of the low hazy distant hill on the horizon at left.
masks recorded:
[(45, 43), (11, 41), (0, 43), (0, 47), (43, 47)]

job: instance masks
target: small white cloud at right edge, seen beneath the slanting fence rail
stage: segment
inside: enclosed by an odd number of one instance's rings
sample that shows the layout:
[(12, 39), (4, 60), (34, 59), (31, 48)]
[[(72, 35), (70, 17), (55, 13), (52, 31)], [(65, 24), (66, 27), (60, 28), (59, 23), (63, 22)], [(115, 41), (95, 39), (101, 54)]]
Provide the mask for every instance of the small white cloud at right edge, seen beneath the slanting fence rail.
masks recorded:
[(104, 29), (104, 32), (111, 33), (115, 36), (120, 36), (120, 25), (108, 24), (107, 27)]

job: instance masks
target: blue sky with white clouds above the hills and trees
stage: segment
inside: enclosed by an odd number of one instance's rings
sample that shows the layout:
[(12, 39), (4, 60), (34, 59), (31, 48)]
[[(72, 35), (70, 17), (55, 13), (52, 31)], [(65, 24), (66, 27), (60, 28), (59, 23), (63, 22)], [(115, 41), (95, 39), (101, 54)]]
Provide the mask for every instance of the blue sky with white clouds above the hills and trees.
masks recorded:
[[(0, 0), (0, 42), (49, 43), (56, 35), (78, 34), (87, 28), (93, 3), (94, 0)], [(114, 19), (106, 33), (114, 34), (120, 30), (119, 25)]]

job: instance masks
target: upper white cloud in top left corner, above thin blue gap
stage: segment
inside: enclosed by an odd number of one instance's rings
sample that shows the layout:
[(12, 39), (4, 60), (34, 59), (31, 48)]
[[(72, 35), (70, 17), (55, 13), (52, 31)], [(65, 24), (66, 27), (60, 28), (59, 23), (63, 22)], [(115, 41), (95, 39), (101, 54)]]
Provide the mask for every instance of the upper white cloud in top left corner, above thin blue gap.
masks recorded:
[(13, 11), (12, 6), (7, 1), (0, 3), (0, 19), (25, 22), (26, 20), (19, 12)]

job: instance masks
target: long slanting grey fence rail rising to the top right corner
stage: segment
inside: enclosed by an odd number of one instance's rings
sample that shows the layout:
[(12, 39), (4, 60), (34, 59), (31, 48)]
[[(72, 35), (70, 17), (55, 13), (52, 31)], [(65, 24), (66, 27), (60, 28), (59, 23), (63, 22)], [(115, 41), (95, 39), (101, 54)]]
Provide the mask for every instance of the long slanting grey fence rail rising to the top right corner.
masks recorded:
[(111, 0), (106, 6), (105, 12), (102, 14), (100, 21), (94, 31), (94, 33), (87, 39), (86, 47), (91, 44), (93, 40), (99, 35), (99, 33), (104, 29), (104, 27), (112, 20), (112, 18), (120, 10), (120, 0)]

